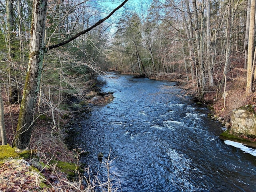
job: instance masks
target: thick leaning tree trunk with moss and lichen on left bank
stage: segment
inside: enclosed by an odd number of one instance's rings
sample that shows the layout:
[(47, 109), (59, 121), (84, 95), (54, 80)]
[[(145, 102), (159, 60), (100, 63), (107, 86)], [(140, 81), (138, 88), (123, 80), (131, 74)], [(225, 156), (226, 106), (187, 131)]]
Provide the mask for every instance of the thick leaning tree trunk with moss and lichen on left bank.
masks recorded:
[(33, 125), (33, 113), (36, 106), (37, 94), (43, 68), (45, 43), (44, 28), (46, 20), (47, 0), (34, 0), (31, 24), (30, 54), (28, 71), (23, 89), (20, 115), (15, 135), (15, 147), (29, 147)]

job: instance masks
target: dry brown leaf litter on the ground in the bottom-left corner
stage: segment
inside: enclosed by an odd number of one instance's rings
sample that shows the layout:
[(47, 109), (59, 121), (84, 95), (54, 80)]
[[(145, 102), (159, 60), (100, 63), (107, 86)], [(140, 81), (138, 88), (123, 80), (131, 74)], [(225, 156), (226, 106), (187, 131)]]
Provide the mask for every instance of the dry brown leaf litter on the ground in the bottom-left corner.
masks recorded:
[(81, 182), (69, 182), (61, 172), (45, 169), (39, 174), (23, 159), (10, 159), (0, 166), (0, 192), (76, 192), (83, 189)]

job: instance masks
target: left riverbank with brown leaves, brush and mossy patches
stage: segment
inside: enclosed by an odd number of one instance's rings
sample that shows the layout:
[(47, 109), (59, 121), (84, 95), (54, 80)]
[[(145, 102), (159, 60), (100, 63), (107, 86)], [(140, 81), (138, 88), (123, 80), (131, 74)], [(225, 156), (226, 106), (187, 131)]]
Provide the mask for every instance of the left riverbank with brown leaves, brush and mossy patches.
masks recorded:
[[(78, 163), (81, 151), (78, 148), (68, 148), (66, 142), (74, 126), (79, 126), (83, 118), (81, 114), (90, 112), (94, 106), (102, 106), (112, 101), (112, 94), (101, 92), (97, 86), (99, 83), (102, 82), (88, 82), (88, 86), (84, 88), (86, 100), (73, 99), (74, 102), (67, 105), (68, 108), (62, 112), (60, 118), (60, 130), (54, 127), (51, 112), (43, 113), (38, 117), (30, 142), (30, 149), (34, 150), (35, 154), (22, 157), (23, 160), (16, 159), (18, 155), (15, 149), (10, 147), (18, 122), (19, 105), (18, 103), (9, 105), (5, 92), (2, 92), (9, 146), (1, 146), (0, 151), (2, 155), (9, 151), (6, 148), (10, 148), (13, 152), (0, 156), (0, 191), (84, 190), (82, 185), (84, 178), (78, 175), (82, 169), (86, 170)], [(57, 113), (54, 113), (54, 119), (58, 119)], [(12, 176), (6, 177), (7, 175)], [(74, 178), (75, 182), (72, 181)], [(88, 187), (92, 187), (90, 183)]]

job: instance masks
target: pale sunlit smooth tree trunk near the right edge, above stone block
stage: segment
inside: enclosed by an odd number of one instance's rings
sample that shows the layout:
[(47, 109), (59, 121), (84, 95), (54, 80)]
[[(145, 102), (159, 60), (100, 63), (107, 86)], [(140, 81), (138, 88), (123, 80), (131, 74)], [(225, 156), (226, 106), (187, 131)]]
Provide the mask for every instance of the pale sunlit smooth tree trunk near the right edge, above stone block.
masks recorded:
[(255, 24), (255, 5), (256, 0), (251, 0), (250, 8), (250, 26), (249, 26), (249, 38), (248, 38), (248, 61), (247, 61), (247, 81), (246, 81), (246, 93), (252, 92), (252, 73), (253, 73), (253, 51), (254, 51), (254, 24)]

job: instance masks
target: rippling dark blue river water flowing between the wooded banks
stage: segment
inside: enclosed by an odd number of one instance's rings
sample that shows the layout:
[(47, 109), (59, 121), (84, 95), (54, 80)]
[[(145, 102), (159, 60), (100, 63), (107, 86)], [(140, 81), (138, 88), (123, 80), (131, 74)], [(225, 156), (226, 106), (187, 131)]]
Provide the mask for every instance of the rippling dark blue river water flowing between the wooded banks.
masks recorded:
[(75, 139), (90, 152), (81, 161), (92, 174), (106, 177), (110, 153), (112, 183), (123, 192), (256, 191), (256, 157), (220, 140), (207, 108), (173, 82), (109, 76), (103, 91), (114, 100), (95, 108)]

